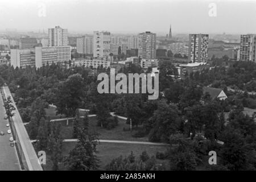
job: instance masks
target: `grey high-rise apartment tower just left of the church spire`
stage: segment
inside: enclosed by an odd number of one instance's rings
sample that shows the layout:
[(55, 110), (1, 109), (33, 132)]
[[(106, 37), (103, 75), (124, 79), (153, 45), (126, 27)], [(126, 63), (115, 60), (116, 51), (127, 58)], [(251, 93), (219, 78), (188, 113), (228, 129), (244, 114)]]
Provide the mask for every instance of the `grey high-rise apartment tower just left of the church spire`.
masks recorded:
[(141, 59), (156, 59), (156, 34), (143, 32), (138, 35), (138, 56)]

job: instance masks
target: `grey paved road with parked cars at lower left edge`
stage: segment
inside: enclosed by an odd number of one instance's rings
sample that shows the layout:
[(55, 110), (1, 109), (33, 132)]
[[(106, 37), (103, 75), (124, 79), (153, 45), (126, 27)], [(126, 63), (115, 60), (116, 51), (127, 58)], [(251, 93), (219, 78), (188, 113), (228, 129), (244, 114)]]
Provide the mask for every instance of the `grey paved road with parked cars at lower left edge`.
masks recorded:
[(5, 108), (3, 107), (3, 99), (0, 94), (0, 131), (5, 135), (0, 135), (0, 171), (19, 171), (19, 159), (15, 147), (10, 146), (10, 134), (7, 134), (9, 127), (6, 127)]

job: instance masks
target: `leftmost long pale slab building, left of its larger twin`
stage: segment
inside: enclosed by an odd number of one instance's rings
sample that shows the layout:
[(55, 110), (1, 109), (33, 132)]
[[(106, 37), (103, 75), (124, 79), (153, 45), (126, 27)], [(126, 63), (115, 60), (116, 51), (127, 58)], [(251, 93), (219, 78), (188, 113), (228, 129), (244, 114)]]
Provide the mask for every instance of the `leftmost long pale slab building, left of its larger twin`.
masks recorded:
[(25, 68), (35, 66), (35, 49), (11, 49), (11, 65)]

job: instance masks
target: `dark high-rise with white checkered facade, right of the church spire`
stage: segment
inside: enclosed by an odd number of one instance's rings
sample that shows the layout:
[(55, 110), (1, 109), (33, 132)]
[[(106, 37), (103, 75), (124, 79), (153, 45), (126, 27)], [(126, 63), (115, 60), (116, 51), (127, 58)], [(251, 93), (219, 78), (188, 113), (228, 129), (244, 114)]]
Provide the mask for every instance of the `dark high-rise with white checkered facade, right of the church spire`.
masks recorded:
[(189, 34), (188, 60), (191, 63), (208, 61), (208, 34)]

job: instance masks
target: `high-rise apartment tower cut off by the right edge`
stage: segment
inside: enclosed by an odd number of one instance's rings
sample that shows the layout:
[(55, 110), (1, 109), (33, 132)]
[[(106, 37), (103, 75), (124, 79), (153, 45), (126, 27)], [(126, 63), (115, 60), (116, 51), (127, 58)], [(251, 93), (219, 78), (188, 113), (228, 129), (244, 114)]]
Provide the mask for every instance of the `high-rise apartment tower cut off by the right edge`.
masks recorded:
[(239, 60), (256, 62), (255, 46), (256, 46), (256, 34), (241, 35)]

